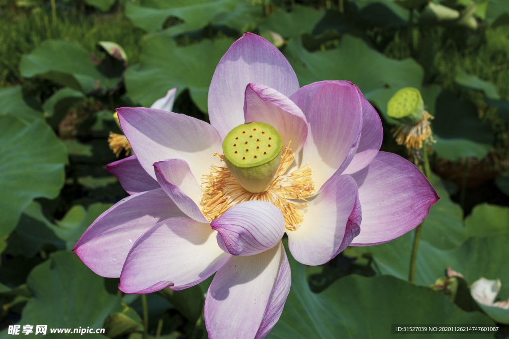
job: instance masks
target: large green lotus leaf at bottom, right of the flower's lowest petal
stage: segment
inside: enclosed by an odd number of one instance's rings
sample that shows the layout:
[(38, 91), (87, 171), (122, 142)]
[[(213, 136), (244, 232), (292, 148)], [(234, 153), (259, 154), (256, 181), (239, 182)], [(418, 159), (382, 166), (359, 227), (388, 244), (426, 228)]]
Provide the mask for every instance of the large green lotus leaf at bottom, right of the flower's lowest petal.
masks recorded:
[[(390, 324), (490, 324), (484, 315), (465, 313), (429, 288), (392, 276), (348, 275), (321, 293), (307, 284), (305, 266), (289, 254), (292, 287), (278, 323), (267, 338), (393, 338)], [(390, 307), (387, 312), (387, 305)], [(420, 337), (405, 334), (405, 338)], [(493, 337), (469, 333), (462, 337)]]

